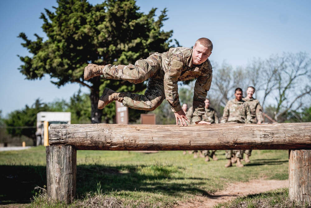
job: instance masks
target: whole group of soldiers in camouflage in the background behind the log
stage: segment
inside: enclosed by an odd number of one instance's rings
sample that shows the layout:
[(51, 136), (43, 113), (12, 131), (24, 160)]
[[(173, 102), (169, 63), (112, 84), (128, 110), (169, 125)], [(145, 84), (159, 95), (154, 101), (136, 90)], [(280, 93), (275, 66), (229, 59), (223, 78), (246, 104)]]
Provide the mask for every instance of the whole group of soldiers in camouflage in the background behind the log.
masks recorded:
[[(253, 94), (255, 92), (255, 88), (250, 86), (247, 88), (247, 95), (243, 97), (243, 90), (241, 88), (236, 88), (234, 91), (235, 98), (229, 100), (224, 108), (223, 116), (219, 122), (217, 112), (210, 107), (209, 99), (205, 100), (205, 111), (206, 114), (202, 116), (203, 121), (210, 122), (212, 124), (217, 123), (247, 123), (247, 124), (261, 124), (263, 122), (262, 116), (262, 107), (259, 101), (253, 98)], [(187, 111), (187, 104), (183, 104), (183, 111), (185, 111), (188, 118), (190, 118), (190, 124), (195, 124), (191, 120), (192, 115), (192, 107), (190, 107)], [(209, 161), (209, 158), (213, 160), (218, 160), (215, 154), (216, 150), (204, 150), (204, 151), (193, 151), (191, 153), (194, 154), (194, 158), (197, 158), (197, 154), (200, 157), (205, 157), (205, 161)], [(190, 153), (190, 152), (189, 152)], [(250, 163), (249, 157), (251, 156), (252, 150), (226, 150), (225, 157), (227, 158), (227, 163), (225, 167), (231, 167), (233, 163), (236, 163), (237, 167), (244, 167), (241, 163), (243, 160), (243, 156), (245, 153), (244, 162)], [(186, 151), (183, 152), (186, 154)]]

